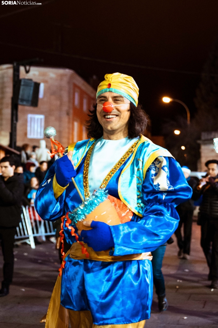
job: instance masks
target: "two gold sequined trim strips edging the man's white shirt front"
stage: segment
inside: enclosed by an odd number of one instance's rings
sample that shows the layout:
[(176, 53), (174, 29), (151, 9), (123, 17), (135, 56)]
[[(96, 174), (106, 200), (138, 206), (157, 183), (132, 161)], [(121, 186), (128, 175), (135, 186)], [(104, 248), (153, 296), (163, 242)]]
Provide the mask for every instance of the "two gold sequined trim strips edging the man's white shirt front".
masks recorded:
[[(139, 142), (139, 140), (134, 142), (134, 144), (131, 147), (129, 147), (129, 149), (126, 151), (126, 153), (121, 157), (121, 159), (114, 165), (114, 167), (110, 170), (110, 172), (104, 178), (102, 184), (100, 185), (100, 188), (106, 188), (107, 187), (107, 184), (109, 183), (112, 176), (119, 170), (119, 168), (123, 165), (123, 163), (127, 160), (127, 158), (129, 158), (129, 156), (134, 152), (138, 142)], [(92, 154), (94, 144), (95, 144), (95, 142), (92, 144), (92, 146), (88, 150), (88, 153), (86, 155), (86, 159), (85, 159), (85, 162), (84, 162), (83, 188), (84, 188), (84, 196), (85, 196), (86, 199), (90, 196), (88, 174), (89, 174), (90, 157), (91, 157), (91, 154)]]

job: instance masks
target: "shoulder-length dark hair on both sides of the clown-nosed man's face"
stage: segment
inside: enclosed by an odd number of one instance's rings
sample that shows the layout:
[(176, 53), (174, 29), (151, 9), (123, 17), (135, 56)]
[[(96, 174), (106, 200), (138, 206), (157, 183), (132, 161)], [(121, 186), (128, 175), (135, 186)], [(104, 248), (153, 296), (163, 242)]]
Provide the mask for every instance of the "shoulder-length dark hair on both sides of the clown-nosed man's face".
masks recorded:
[[(148, 115), (145, 113), (141, 105), (137, 107), (130, 102), (130, 116), (128, 121), (128, 137), (130, 139), (136, 138), (144, 133), (147, 124), (149, 123)], [(88, 138), (99, 139), (103, 136), (103, 127), (98, 121), (97, 117), (97, 104), (93, 105), (90, 110), (89, 120), (86, 122), (88, 131)]]

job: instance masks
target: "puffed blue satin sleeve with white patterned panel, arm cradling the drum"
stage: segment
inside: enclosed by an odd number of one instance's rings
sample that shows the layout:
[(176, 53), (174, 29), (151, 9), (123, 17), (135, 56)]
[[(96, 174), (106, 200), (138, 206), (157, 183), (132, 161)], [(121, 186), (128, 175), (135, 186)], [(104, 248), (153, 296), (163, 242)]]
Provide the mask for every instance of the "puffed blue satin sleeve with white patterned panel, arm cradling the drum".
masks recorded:
[(143, 181), (143, 217), (110, 226), (114, 239), (113, 256), (154, 251), (175, 232), (179, 216), (175, 207), (190, 199), (180, 165), (172, 157), (158, 157), (148, 168)]

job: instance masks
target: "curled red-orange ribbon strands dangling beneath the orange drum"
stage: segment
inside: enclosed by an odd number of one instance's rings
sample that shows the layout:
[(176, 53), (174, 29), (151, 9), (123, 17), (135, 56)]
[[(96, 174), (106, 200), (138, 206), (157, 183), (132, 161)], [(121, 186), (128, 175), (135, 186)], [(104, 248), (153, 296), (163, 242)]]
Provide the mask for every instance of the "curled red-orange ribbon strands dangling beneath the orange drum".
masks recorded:
[(85, 256), (86, 256), (86, 258), (89, 258), (89, 253), (87, 252), (87, 249), (86, 249), (86, 247), (84, 247), (84, 245), (83, 245), (83, 243), (81, 243), (81, 241), (79, 241), (79, 237), (78, 237), (78, 235), (75, 233), (75, 229), (72, 227), (72, 226), (70, 226), (70, 224), (71, 224), (71, 219), (69, 218), (69, 216), (68, 216), (68, 212), (67, 212), (67, 214), (66, 215), (63, 215), (62, 217), (61, 217), (61, 225), (60, 225), (60, 227), (61, 227), (61, 230), (60, 230), (60, 232), (59, 232), (59, 235), (60, 235), (60, 242), (62, 243), (62, 246), (61, 246), (61, 251), (60, 251), (60, 253), (61, 253), (61, 255), (62, 255), (62, 263), (61, 263), (61, 266), (60, 266), (60, 268), (59, 268), (59, 276), (61, 276), (62, 275), (62, 269), (64, 269), (64, 266), (65, 266), (65, 263), (66, 263), (66, 261), (64, 260), (64, 257), (65, 257), (65, 253), (64, 253), (64, 233), (63, 233), (63, 227), (64, 227), (64, 219), (66, 218), (66, 222), (65, 222), (65, 225), (66, 225), (66, 227), (70, 230), (70, 233), (71, 233), (71, 236), (75, 236), (75, 239), (76, 239), (76, 241), (77, 241), (77, 243), (79, 243), (81, 246), (82, 246), (82, 249), (81, 249), (81, 251), (82, 251), (82, 254), (85, 254)]

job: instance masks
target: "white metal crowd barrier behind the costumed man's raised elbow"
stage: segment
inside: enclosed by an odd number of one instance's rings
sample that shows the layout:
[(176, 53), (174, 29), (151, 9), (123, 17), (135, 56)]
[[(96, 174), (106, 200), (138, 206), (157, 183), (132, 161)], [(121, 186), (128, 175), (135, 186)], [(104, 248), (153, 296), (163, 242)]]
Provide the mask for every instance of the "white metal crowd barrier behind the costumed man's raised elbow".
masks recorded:
[(54, 235), (52, 222), (42, 220), (34, 205), (26, 206), (26, 208), (22, 206), (21, 222), (17, 227), (14, 244), (26, 242), (31, 248), (36, 248), (34, 237), (41, 236), (45, 241), (45, 236)]

